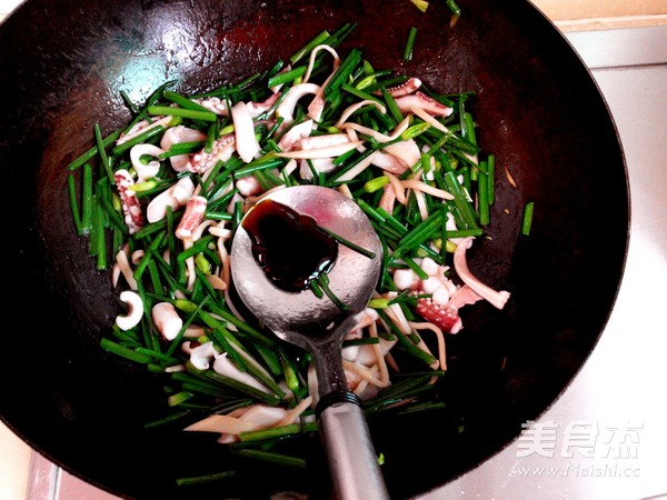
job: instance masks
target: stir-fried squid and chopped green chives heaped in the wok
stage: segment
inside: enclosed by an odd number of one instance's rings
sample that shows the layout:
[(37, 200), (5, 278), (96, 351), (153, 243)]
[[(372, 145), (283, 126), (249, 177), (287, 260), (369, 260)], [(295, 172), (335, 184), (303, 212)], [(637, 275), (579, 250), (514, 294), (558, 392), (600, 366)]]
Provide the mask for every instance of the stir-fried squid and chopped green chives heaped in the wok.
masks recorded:
[(169, 411), (148, 426), (277, 454), (282, 438), (317, 430), (309, 356), (245, 310), (230, 276), (236, 228), (275, 190), (339, 190), (382, 242), (375, 294), (342, 344), (367, 414), (432, 404), (461, 308), (508, 300), (466, 258), (494, 203), (495, 159), (477, 144), (472, 93), (437, 94), (358, 49), (339, 52), (352, 29), (206, 93), (168, 82), (129, 103), (128, 127), (107, 137), (96, 127), (96, 146), (70, 164), (77, 230), (127, 304), (101, 346), (165, 379)]

